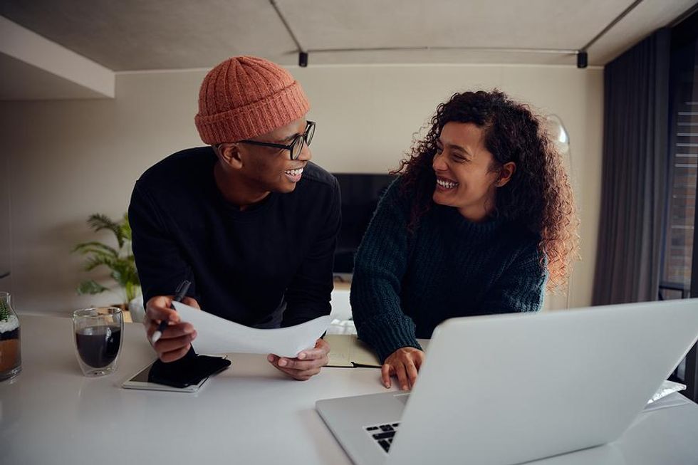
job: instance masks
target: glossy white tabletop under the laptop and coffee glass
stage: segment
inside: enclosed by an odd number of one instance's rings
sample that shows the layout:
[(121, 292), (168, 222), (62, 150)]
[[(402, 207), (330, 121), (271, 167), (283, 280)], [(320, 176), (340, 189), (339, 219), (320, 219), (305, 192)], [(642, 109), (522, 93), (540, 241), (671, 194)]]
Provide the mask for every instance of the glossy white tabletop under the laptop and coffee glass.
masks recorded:
[[(125, 325), (118, 371), (87, 378), (69, 318), (20, 322), (23, 369), (0, 383), (2, 464), (350, 464), (315, 402), (385, 390), (377, 369), (325, 367), (298, 382), (240, 354), (195, 394), (124, 390), (155, 360), (140, 324)], [(698, 465), (698, 405), (642, 413), (612, 444), (536, 464)]]

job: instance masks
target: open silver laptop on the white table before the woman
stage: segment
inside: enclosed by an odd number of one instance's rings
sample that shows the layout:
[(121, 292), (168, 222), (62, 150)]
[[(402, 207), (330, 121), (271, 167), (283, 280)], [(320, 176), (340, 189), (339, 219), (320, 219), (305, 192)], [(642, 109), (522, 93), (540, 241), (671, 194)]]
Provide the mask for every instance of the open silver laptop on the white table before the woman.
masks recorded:
[(511, 465), (612, 442), (698, 339), (698, 299), (453, 318), (411, 393), (316, 409), (356, 465)]

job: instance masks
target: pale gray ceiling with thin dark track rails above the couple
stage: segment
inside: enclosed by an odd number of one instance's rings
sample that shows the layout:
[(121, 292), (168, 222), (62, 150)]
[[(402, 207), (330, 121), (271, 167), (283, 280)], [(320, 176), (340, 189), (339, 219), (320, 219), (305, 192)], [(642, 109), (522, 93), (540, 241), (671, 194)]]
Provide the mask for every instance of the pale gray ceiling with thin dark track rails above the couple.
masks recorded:
[[(592, 41), (633, 1), (275, 0), (275, 3), (301, 47), (309, 51), (309, 66), (574, 65), (576, 58), (572, 52), (459, 48), (575, 51)], [(674, 21), (694, 3), (694, 0), (641, 1), (588, 49), (589, 64), (603, 66), (656, 28)], [(239, 54), (264, 56), (284, 65), (298, 63), (296, 43), (269, 0), (3, 0), (0, 16), (115, 72), (210, 68)], [(328, 51), (338, 48), (415, 49)], [(3, 62), (0, 60), (0, 65)], [(17, 63), (10, 64), (21, 68)]]

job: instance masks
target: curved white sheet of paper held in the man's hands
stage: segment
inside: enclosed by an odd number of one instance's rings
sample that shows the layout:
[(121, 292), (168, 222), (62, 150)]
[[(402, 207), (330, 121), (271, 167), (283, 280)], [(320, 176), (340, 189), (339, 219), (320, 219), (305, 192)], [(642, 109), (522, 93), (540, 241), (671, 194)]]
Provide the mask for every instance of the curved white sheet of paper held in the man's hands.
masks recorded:
[(192, 344), (197, 352), (204, 354), (237, 352), (293, 358), (302, 350), (315, 347), (316, 340), (332, 321), (330, 315), (325, 315), (288, 328), (261, 330), (233, 323), (183, 303), (174, 304), (182, 321), (192, 323), (197, 330), (197, 338)]

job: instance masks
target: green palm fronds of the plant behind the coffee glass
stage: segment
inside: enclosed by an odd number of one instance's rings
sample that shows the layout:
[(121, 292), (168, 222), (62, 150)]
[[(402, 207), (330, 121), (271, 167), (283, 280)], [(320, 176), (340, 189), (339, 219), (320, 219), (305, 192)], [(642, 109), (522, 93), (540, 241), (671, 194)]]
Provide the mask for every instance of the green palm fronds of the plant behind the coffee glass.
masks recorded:
[[(118, 248), (90, 241), (78, 244), (73, 252), (86, 257), (85, 271), (92, 271), (100, 266), (109, 268), (110, 276), (118, 284), (124, 299), (118, 306), (125, 310), (128, 303), (140, 294), (140, 281), (131, 249), (131, 226), (128, 224), (128, 216), (125, 214), (120, 221), (113, 221), (106, 215), (93, 214), (88, 219), (88, 225), (95, 232), (103, 229), (112, 231)], [(93, 279), (83, 281), (77, 289), (78, 295), (98, 294), (109, 290), (110, 288)]]

